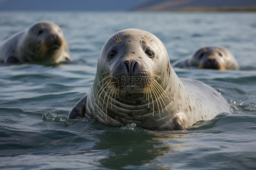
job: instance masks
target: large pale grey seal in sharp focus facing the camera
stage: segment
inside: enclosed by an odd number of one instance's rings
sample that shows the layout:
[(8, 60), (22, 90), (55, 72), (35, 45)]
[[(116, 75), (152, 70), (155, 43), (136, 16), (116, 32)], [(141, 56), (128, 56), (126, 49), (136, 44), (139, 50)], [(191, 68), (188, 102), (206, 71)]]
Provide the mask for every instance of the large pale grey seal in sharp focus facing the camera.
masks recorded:
[(179, 78), (164, 44), (153, 34), (127, 29), (102, 47), (95, 80), (69, 113), (123, 126), (184, 130), (230, 107), (219, 92), (197, 80)]

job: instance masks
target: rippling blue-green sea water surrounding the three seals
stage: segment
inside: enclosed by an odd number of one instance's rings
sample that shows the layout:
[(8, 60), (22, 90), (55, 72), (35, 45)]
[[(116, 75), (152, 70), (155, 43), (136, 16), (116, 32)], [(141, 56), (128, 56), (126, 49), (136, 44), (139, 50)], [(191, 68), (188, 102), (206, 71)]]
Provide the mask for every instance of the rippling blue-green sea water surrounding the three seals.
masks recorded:
[[(1, 170), (256, 169), (256, 13), (1, 11), (0, 42), (39, 20), (60, 25), (73, 62), (0, 64)], [(180, 131), (68, 120), (92, 85), (109, 25), (158, 36), (171, 63), (204, 45), (229, 49), (240, 70), (174, 70), (220, 91), (232, 115)]]

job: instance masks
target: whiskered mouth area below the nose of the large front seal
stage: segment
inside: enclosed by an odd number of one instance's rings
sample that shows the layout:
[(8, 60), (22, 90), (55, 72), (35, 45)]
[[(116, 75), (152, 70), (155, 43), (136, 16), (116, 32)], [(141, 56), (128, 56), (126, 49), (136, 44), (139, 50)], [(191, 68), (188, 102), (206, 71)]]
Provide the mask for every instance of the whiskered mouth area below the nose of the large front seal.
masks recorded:
[[(120, 93), (122, 93), (122, 98), (124, 97), (123, 99), (127, 101), (131, 100), (134, 102), (138, 98), (143, 98), (143, 103), (148, 105), (148, 108), (150, 105), (153, 106), (153, 115), (154, 111), (158, 110), (161, 117), (160, 110), (164, 113), (166, 104), (170, 102), (167, 93), (161, 86), (162, 83), (164, 83), (164, 78), (157, 75), (156, 72), (126, 76), (124, 74), (117, 75), (110, 71), (110, 74), (106, 75), (98, 83), (98, 85), (101, 84), (101, 88), (97, 92), (95, 101), (99, 105), (101, 98), (103, 100), (103, 109), (104, 103), (108, 105), (108, 102), (111, 102), (112, 105), (112, 101), (118, 100), (121, 95)], [(106, 108), (106, 114), (107, 110), (108, 108)]]

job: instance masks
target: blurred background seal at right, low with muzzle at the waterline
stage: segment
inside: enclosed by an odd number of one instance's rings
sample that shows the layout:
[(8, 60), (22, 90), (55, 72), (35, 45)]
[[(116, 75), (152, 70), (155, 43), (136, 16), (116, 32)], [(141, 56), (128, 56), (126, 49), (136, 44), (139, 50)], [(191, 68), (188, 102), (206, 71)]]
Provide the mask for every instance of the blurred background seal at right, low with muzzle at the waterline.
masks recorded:
[(175, 61), (173, 67), (198, 67), (200, 69), (237, 70), (239, 65), (229, 50), (223, 47), (203, 47), (192, 57)]

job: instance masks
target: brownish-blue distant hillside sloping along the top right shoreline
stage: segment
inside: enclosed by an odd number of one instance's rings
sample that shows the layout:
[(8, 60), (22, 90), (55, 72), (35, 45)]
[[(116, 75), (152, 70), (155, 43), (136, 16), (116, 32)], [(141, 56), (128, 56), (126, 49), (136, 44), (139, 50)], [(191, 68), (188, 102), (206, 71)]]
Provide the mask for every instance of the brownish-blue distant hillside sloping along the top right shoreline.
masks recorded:
[(140, 11), (256, 10), (256, 0), (147, 0), (133, 7)]

